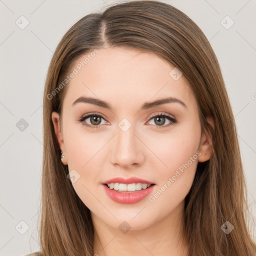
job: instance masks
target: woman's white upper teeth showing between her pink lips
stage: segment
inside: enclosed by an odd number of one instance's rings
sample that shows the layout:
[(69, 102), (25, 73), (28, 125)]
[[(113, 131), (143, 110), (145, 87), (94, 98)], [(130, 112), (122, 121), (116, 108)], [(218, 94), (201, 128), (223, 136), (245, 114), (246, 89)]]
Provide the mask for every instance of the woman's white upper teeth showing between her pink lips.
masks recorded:
[(145, 190), (150, 186), (155, 185), (147, 184), (147, 183), (131, 183), (131, 184), (124, 184), (124, 183), (104, 183), (106, 187), (116, 192), (121, 193), (134, 193), (137, 191)]

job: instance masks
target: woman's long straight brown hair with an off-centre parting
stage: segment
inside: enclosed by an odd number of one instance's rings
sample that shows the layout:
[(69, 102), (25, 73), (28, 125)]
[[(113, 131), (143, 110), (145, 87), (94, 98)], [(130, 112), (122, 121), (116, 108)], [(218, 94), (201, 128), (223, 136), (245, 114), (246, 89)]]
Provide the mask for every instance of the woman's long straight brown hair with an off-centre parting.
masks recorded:
[[(198, 163), (185, 197), (184, 226), (189, 256), (256, 255), (246, 223), (247, 194), (234, 117), (219, 63), (201, 29), (175, 7), (152, 0), (113, 4), (77, 21), (51, 59), (43, 98), (43, 169), (40, 246), (43, 256), (92, 256), (90, 210), (67, 178), (68, 167), (51, 120), (61, 117), (68, 83), (59, 86), (82, 54), (125, 46), (153, 52), (182, 71), (198, 103), (201, 127), (212, 134), (210, 159)], [(55, 92), (54, 92), (55, 91)], [(53, 93), (54, 92), (54, 93)], [(214, 129), (206, 121), (214, 120)], [(234, 229), (221, 229), (229, 221)]]

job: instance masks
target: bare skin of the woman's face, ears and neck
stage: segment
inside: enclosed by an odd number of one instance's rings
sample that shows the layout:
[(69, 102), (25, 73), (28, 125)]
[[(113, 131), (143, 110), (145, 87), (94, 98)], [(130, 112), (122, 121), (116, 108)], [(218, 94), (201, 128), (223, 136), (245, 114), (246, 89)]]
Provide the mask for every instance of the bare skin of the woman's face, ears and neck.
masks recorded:
[[(174, 66), (154, 53), (124, 47), (98, 50), (68, 83), (62, 126), (58, 113), (52, 112), (51, 116), (65, 155), (62, 163), (80, 175), (72, 185), (91, 212), (94, 253), (187, 255), (187, 244), (181, 239), (184, 198), (192, 185), (197, 162), (208, 160), (212, 152), (211, 137), (201, 130), (195, 97), (185, 77), (174, 80), (169, 75)], [(84, 102), (72, 106), (80, 96), (105, 100), (112, 110)], [(143, 103), (167, 96), (182, 100), (186, 107), (171, 102), (139, 110)], [(100, 128), (86, 127), (77, 121), (91, 112), (103, 115), (104, 119), (98, 121)], [(159, 113), (169, 114), (177, 122), (170, 124), (165, 118), (159, 124), (152, 118)], [(122, 118), (131, 123), (127, 131), (118, 126)], [(208, 121), (213, 126), (212, 119)], [(83, 123), (93, 126), (89, 117)], [(155, 201), (149, 201), (149, 196), (197, 151), (200, 155), (196, 160)], [(153, 181), (153, 191), (134, 204), (112, 201), (101, 183), (131, 176)], [(118, 228), (123, 221), (130, 226), (126, 233)]]

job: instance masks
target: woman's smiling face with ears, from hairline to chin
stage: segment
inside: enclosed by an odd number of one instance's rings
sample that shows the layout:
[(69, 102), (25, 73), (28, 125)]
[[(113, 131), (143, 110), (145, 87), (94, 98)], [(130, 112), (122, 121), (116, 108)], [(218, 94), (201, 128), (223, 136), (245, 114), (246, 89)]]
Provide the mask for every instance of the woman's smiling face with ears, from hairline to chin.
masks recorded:
[(183, 209), (197, 162), (210, 157), (207, 138), (174, 66), (136, 49), (91, 52), (71, 68), (61, 128), (52, 113), (62, 162), (92, 216), (114, 228), (127, 222), (142, 229)]

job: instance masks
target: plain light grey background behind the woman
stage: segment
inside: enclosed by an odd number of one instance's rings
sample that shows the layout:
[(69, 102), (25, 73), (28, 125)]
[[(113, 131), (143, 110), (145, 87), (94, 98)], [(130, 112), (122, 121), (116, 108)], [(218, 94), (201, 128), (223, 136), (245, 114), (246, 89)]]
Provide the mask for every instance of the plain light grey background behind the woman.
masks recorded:
[[(36, 221), (41, 210), (42, 96), (55, 47), (78, 19), (113, 2), (117, 1), (0, 0), (0, 255), (24, 255), (39, 249)], [(249, 210), (255, 221), (256, 2), (163, 2), (197, 23), (219, 60), (238, 128)], [(21, 15), (29, 21), (23, 29), (19, 27), (25, 24)], [(224, 26), (232, 21), (226, 15), (234, 21), (228, 29)], [(24, 122), (28, 126), (22, 131), (19, 125)], [(20, 221), (28, 225), (27, 231)], [(255, 223), (251, 222), (250, 228), (255, 233)]]

